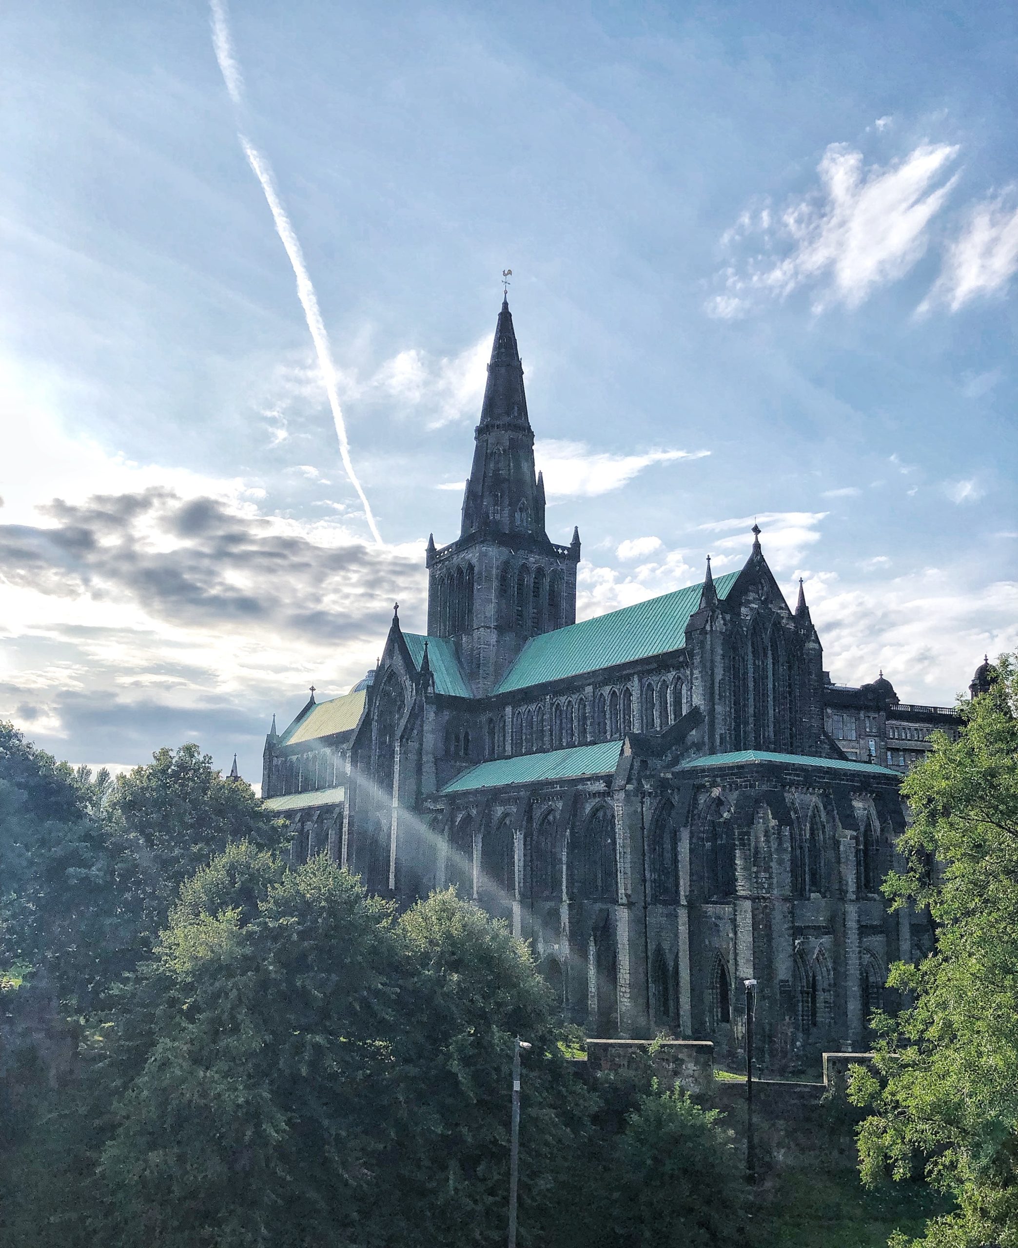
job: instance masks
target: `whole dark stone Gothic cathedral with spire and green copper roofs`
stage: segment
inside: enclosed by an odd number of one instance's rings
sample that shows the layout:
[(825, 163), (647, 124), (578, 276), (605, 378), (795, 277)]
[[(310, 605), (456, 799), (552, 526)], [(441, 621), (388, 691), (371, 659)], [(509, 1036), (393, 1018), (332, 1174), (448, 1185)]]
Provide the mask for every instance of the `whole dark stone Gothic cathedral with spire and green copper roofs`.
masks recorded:
[(882, 673), (832, 683), (802, 585), (790, 607), (760, 539), (739, 572), (707, 560), (695, 585), (576, 622), (580, 535), (545, 529), (504, 301), (459, 537), (428, 542), (427, 633), (394, 610), (364, 680), (273, 719), (262, 795), (293, 860), (328, 854), (400, 906), (455, 885), (531, 942), (589, 1036), (731, 1060), (752, 980), (765, 1068), (865, 1050), (888, 963), (931, 940), (880, 892), (899, 778), (959, 720)]

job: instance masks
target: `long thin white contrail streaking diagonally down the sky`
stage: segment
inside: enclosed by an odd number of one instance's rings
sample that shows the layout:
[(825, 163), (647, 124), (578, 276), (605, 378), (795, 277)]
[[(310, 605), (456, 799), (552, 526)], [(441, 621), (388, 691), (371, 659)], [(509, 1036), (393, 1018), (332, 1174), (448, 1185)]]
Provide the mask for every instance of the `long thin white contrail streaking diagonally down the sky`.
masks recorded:
[[(235, 109), (240, 112), (243, 107), (243, 77), (241, 76), (241, 67), (237, 64), (237, 59), (233, 55), (226, 2), (225, 0), (210, 0), (210, 4), (212, 7), (212, 46), (216, 50), (216, 60), (218, 61), (226, 90), (230, 92), (230, 99), (233, 101)], [(343, 419), (343, 409), (339, 406), (339, 393), (336, 387), (336, 364), (332, 362), (332, 351), (329, 349), (326, 324), (322, 321), (318, 298), (314, 293), (314, 286), (311, 282), (307, 265), (304, 263), (301, 243), (293, 232), (293, 226), (289, 223), (289, 217), (276, 188), (272, 166), (241, 129), (237, 130), (237, 139), (247, 157), (247, 163), (261, 183), (266, 202), (272, 213), (272, 220), (276, 223), (276, 233), (278, 233), (279, 241), (286, 248), (291, 267), (293, 268), (293, 276), (297, 278), (297, 298), (299, 298), (301, 307), (304, 310), (304, 319), (311, 333), (311, 341), (314, 343), (314, 352), (318, 356), (318, 368), (322, 372), (326, 394), (332, 408), (332, 421), (336, 426), (336, 436), (339, 439), (339, 454), (343, 459), (343, 468), (346, 468), (347, 477), (349, 477), (364, 507), (364, 515), (368, 519), (368, 528), (372, 530), (372, 537), (382, 545), (382, 534), (374, 523), (374, 513), (371, 509), (368, 495), (364, 493), (361, 480), (353, 469), (349, 439), (347, 438), (347, 422)]]

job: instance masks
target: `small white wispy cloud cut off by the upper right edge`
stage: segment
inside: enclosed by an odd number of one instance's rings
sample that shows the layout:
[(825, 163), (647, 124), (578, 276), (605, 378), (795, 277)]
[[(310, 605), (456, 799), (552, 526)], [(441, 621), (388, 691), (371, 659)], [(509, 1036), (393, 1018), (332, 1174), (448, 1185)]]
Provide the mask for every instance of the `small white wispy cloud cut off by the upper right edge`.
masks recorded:
[(1018, 271), (1018, 206), (1016, 188), (977, 203), (961, 236), (948, 247), (943, 272), (919, 305), (937, 303), (957, 312), (981, 295), (1002, 291)]

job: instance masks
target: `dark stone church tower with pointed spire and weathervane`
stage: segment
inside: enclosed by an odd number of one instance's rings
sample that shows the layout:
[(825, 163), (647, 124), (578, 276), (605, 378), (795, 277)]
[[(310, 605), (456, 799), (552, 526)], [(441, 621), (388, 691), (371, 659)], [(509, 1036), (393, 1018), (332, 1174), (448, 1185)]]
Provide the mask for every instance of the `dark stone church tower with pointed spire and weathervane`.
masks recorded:
[(495, 688), (528, 638), (576, 619), (580, 535), (550, 542), (523, 363), (503, 300), (459, 537), (428, 542), (428, 633), (454, 638), (474, 693)]

